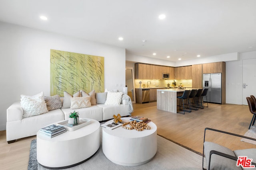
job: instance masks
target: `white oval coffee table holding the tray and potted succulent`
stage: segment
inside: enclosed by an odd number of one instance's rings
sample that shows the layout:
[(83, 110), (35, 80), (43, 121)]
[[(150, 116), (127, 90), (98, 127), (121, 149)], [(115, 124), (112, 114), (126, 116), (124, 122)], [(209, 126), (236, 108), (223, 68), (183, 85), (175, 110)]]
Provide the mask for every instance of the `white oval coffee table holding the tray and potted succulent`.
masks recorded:
[[(100, 147), (100, 123), (91, 123), (75, 131), (49, 138), (37, 133), (37, 160), (48, 169), (64, 169), (90, 159)], [(57, 124), (53, 123), (53, 124)]]

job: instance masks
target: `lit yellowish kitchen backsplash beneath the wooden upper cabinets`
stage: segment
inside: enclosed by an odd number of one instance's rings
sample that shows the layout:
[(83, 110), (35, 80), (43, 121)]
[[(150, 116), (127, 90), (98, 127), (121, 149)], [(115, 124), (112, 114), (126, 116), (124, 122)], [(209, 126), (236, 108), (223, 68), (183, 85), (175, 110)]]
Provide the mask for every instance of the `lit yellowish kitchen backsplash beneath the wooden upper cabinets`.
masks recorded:
[[(140, 88), (139, 82), (141, 81), (141, 88), (143, 88), (143, 84), (147, 87), (147, 83), (149, 87), (167, 87), (167, 84), (169, 83), (170, 86), (172, 86), (172, 82), (174, 80), (140, 80), (135, 79), (135, 88)], [(192, 80), (175, 80), (176, 87), (180, 85), (180, 83), (183, 84), (184, 87), (192, 88)], [(151, 84), (150, 84), (151, 83)]]

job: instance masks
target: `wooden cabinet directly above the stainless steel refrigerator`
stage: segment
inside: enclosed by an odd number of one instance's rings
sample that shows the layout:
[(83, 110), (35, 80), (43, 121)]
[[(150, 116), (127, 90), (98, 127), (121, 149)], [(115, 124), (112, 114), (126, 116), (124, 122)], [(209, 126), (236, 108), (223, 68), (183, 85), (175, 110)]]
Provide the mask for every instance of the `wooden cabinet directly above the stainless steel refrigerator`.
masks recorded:
[(219, 73), (219, 72), (226, 72), (226, 63), (225, 62), (203, 64), (203, 74)]

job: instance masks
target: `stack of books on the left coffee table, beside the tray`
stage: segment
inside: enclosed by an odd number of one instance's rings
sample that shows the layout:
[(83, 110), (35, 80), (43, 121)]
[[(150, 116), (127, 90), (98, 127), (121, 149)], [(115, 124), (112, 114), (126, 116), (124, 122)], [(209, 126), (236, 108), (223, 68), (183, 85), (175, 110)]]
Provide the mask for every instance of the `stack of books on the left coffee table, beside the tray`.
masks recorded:
[(50, 125), (39, 130), (40, 134), (50, 138), (60, 135), (66, 131), (65, 127), (58, 125)]

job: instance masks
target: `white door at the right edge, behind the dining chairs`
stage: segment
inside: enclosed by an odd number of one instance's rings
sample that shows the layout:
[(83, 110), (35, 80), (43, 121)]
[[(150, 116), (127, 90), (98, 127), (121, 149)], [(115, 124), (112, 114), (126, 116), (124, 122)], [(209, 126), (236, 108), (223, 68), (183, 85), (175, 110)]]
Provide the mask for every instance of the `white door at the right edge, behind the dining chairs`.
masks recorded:
[(256, 59), (245, 59), (243, 62), (243, 104), (248, 105), (246, 97), (256, 97)]

